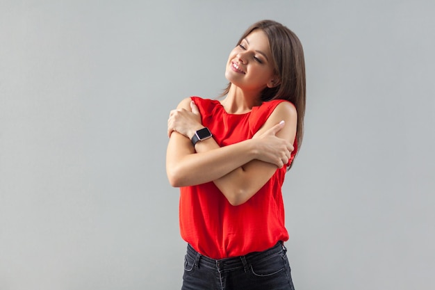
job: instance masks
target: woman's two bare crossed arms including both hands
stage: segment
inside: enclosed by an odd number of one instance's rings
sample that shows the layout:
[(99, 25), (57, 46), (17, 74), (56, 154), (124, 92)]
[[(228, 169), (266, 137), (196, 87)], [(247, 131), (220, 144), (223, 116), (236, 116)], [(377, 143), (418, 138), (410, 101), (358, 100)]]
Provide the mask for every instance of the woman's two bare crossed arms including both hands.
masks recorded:
[[(183, 118), (186, 116), (188, 118)], [(219, 147), (211, 138), (197, 143), (196, 154), (190, 138), (186, 136), (202, 128), (202, 124), (200, 118), (195, 120), (195, 116), (192, 116), (190, 99), (185, 99), (178, 110), (171, 113), (170, 121), (177, 122), (168, 122), (170, 142), (166, 168), (172, 186), (213, 181), (231, 204), (242, 204), (272, 177), (277, 168), (287, 163), (293, 150), (293, 142), (290, 143), (288, 139), (291, 138), (293, 127), (295, 132), (296, 116), (290, 104), (280, 104), (251, 140)], [(280, 120), (290, 125), (278, 124)]]

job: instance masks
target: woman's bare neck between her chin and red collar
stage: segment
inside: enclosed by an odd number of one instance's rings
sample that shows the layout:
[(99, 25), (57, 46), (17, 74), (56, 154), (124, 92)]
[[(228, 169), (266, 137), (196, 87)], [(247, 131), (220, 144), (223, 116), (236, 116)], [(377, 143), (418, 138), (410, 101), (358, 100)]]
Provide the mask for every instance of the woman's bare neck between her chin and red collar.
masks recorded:
[(261, 105), (260, 94), (242, 90), (231, 84), (228, 95), (222, 100), (221, 104), (225, 111), (231, 114), (243, 114), (252, 110), (253, 106)]

